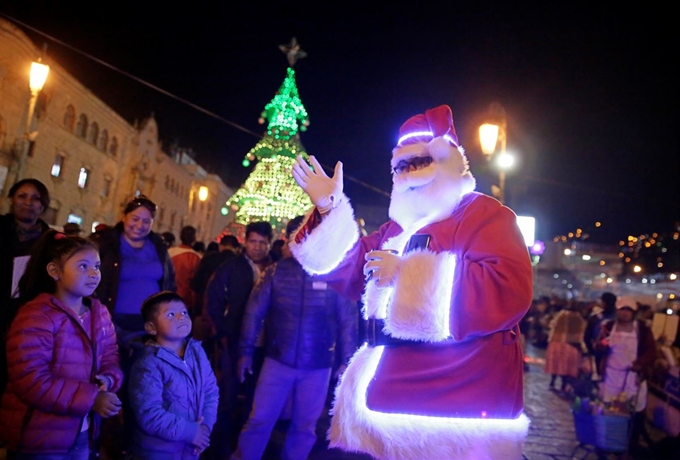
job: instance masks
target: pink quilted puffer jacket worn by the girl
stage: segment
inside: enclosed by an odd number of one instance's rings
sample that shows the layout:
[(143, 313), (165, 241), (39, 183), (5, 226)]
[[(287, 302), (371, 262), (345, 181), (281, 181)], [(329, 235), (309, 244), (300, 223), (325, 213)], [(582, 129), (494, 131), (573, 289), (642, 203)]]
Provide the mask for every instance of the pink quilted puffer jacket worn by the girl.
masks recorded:
[[(111, 316), (90, 301), (90, 339), (80, 320), (51, 294), (40, 294), (19, 309), (7, 341), (9, 384), (0, 409), (0, 439), (11, 450), (64, 453), (91, 413), (97, 374), (123, 381)], [(93, 425), (99, 416), (92, 413)]]

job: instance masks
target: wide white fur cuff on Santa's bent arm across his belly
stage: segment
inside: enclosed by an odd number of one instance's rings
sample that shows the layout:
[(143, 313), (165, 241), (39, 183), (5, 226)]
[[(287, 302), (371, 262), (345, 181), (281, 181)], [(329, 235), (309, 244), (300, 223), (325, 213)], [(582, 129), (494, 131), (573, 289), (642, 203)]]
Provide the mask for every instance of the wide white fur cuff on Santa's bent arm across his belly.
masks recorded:
[(455, 256), (448, 252), (406, 254), (388, 306), (385, 331), (400, 339), (438, 342), (449, 325)]

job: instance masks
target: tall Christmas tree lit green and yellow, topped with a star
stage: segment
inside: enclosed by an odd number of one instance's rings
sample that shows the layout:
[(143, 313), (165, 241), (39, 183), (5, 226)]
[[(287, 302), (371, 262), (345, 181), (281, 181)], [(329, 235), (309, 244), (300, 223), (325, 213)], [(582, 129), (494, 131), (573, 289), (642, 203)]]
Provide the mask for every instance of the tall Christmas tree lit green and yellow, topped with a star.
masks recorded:
[(304, 214), (311, 206), (307, 194), (297, 185), (291, 174), (295, 158), (307, 153), (300, 142), (300, 131), (309, 125), (307, 110), (302, 105), (295, 83), (293, 65), (305, 57), (293, 38), (289, 45), (281, 45), (288, 56), (286, 78), (274, 98), (262, 112), (260, 124), (268, 123), (267, 132), (245, 156), (243, 166), (257, 161), (245, 184), (227, 201), (226, 208), (235, 212), (235, 221), (269, 221), (280, 231), (288, 220)]

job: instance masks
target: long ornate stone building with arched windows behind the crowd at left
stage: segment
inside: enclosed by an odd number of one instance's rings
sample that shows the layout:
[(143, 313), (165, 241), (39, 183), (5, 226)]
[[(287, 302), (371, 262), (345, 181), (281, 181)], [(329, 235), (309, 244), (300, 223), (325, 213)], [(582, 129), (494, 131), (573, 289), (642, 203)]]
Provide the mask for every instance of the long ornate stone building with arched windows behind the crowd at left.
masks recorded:
[[(29, 87), (40, 49), (0, 18), (0, 190), (34, 177), (52, 196), (43, 219), (54, 226), (77, 222), (89, 234), (115, 224), (125, 203), (144, 194), (158, 204), (154, 231), (179, 235), (197, 228), (208, 242), (229, 224), (220, 213), (232, 191), (180, 149), (166, 152), (153, 116), (130, 124), (80, 84), (59, 63), (37, 95)], [(20, 176), (20, 177), (17, 177)], [(8, 203), (3, 199), (2, 212)]]

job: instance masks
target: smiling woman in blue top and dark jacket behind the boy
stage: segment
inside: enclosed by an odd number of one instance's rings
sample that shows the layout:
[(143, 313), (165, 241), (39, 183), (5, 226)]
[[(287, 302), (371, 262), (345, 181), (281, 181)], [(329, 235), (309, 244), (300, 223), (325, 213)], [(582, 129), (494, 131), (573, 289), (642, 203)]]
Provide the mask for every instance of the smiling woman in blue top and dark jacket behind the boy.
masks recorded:
[[(125, 439), (104, 441), (104, 448), (126, 449), (131, 443), (134, 420), (127, 403), (127, 377), (135, 358), (143, 350), (144, 299), (160, 291), (175, 291), (175, 270), (168, 248), (160, 235), (151, 231), (156, 205), (144, 195), (130, 200), (123, 219), (115, 226), (97, 232), (102, 281), (96, 295), (111, 312), (116, 327), (120, 360), (125, 381), (119, 393), (123, 401)], [(114, 427), (108, 431), (114, 432)], [(108, 452), (114, 457), (120, 452)]]

